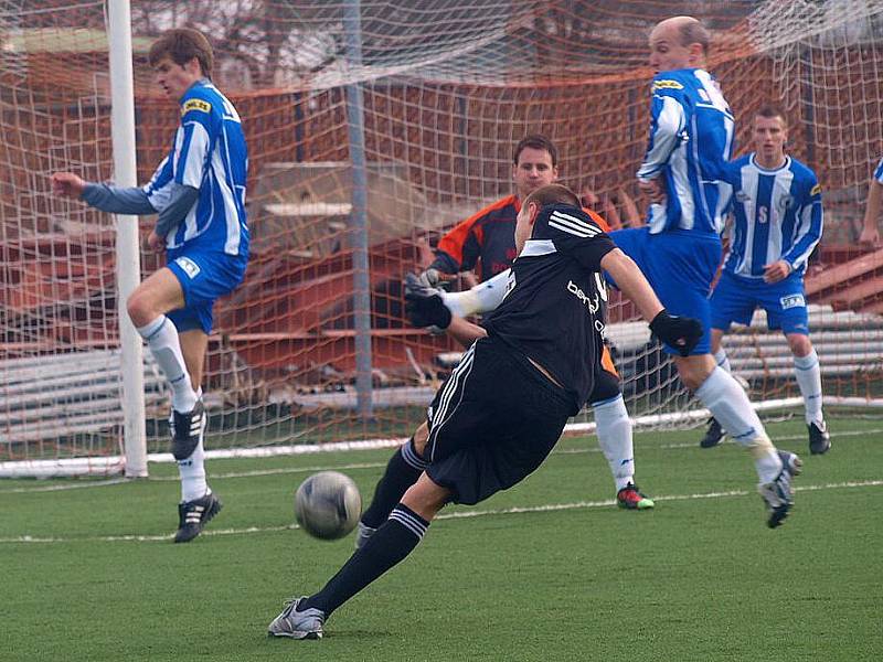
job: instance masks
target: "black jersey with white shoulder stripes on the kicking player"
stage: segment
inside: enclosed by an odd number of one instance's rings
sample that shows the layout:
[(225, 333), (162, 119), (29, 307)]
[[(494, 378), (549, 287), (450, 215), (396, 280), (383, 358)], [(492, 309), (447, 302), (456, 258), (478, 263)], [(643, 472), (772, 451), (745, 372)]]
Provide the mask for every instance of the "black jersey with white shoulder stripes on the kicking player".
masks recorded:
[(512, 264), (506, 298), (483, 323), (489, 335), (547, 370), (573, 398), (574, 414), (600, 365), (607, 300), (600, 260), (615, 247), (578, 207), (543, 207)]

